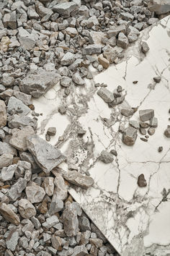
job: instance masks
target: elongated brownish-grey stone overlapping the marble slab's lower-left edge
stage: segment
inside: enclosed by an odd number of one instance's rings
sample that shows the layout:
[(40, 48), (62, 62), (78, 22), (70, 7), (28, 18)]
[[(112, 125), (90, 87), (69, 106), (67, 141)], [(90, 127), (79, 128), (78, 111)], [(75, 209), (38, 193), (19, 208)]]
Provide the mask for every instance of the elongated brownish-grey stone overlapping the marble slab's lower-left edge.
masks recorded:
[(82, 187), (83, 189), (87, 189), (94, 184), (94, 179), (89, 176), (84, 176), (80, 174), (78, 171), (68, 171), (63, 175), (64, 179), (66, 179), (71, 184), (75, 184), (76, 186)]

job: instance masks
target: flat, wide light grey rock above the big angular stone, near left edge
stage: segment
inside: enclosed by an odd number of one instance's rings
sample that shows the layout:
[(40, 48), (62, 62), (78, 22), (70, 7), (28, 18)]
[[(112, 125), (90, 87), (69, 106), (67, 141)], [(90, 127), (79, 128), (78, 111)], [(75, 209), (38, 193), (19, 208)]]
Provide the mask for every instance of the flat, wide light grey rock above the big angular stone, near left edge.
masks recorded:
[(30, 118), (30, 116), (19, 116), (14, 114), (9, 116), (8, 125), (10, 128), (21, 128), (21, 127), (32, 127), (33, 129), (37, 128), (37, 120)]

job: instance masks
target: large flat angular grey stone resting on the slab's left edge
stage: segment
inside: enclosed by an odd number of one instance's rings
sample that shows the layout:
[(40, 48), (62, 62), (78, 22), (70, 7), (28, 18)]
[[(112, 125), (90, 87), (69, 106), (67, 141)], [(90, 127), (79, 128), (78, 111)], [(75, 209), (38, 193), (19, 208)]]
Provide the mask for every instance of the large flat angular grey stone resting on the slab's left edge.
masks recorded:
[(34, 156), (35, 161), (40, 168), (49, 173), (53, 168), (66, 160), (61, 151), (42, 140), (38, 135), (27, 137), (27, 148)]

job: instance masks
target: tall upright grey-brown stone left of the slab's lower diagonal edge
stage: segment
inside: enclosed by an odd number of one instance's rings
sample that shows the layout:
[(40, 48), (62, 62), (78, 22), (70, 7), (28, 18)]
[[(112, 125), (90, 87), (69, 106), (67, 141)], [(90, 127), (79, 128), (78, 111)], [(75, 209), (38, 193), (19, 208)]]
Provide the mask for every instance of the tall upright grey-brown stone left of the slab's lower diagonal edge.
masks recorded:
[(67, 236), (76, 236), (79, 232), (77, 211), (70, 202), (66, 203), (66, 209), (63, 211), (63, 228)]

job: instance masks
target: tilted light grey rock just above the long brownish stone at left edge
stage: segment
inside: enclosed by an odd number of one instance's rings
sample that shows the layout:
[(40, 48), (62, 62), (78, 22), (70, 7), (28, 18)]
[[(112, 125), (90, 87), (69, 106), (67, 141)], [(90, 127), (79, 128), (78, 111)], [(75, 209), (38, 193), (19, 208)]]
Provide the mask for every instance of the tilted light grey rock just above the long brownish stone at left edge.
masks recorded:
[(16, 201), (20, 196), (22, 191), (27, 186), (27, 181), (23, 178), (19, 178), (17, 182), (12, 185), (12, 187), (9, 189), (8, 197), (12, 201)]

